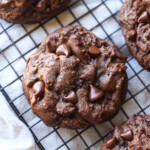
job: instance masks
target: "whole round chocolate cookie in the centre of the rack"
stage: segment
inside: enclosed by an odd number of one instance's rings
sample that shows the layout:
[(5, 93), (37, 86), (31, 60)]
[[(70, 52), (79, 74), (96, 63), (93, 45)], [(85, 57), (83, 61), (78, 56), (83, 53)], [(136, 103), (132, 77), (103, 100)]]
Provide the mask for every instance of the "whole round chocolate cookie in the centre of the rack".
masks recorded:
[(46, 125), (83, 128), (111, 119), (127, 92), (126, 57), (81, 26), (48, 35), (27, 61), (23, 90)]

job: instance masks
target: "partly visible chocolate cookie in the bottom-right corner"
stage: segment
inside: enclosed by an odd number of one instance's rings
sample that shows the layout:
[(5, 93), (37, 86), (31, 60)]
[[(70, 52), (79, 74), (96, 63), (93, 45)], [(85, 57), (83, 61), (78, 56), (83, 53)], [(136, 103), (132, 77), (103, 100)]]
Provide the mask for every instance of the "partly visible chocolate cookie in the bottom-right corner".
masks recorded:
[(150, 150), (150, 115), (133, 115), (116, 126), (100, 150)]

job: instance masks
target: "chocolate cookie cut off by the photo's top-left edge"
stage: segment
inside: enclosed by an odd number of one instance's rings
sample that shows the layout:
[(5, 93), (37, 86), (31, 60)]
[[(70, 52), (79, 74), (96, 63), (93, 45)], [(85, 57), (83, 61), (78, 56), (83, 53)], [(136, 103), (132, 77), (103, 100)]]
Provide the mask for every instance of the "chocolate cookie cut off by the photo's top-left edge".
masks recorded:
[(63, 10), (70, 0), (0, 0), (0, 18), (11, 23), (36, 23)]

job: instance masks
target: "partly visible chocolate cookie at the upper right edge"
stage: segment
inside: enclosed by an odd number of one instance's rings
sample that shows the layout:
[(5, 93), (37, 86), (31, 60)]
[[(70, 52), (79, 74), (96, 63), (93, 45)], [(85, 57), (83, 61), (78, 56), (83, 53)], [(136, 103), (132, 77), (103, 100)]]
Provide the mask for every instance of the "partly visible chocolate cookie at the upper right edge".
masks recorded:
[(150, 71), (150, 0), (126, 0), (119, 20), (131, 54)]

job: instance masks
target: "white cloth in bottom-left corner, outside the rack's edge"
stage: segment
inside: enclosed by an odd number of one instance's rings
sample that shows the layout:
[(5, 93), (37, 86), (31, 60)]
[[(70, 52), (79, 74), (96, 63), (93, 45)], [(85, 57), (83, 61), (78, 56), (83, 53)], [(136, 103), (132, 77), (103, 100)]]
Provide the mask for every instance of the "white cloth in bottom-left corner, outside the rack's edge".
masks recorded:
[(28, 128), (0, 93), (0, 150), (38, 150)]

